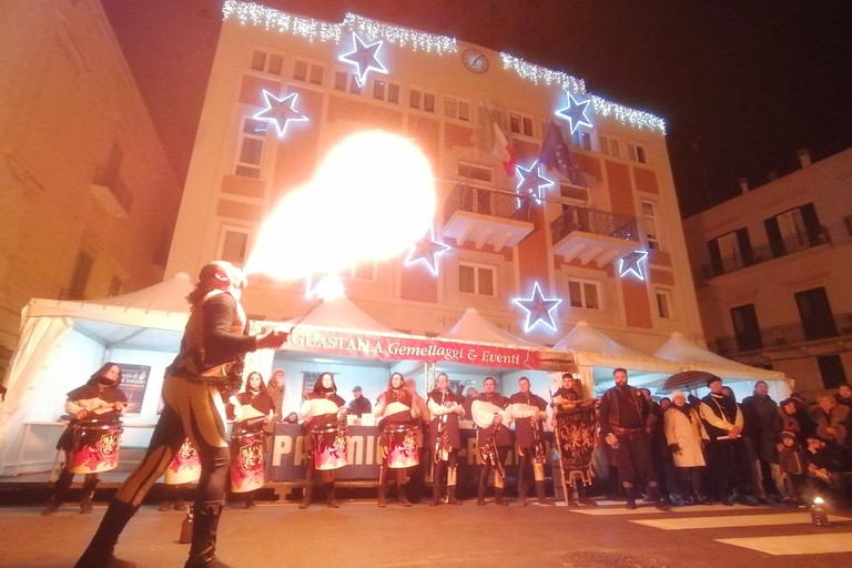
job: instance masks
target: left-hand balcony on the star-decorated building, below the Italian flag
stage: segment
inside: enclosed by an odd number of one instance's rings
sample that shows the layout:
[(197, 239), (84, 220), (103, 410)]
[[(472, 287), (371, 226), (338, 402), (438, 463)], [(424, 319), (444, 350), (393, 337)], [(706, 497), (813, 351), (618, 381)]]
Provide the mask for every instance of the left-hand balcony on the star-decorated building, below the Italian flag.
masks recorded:
[(444, 203), (444, 236), (478, 250), (511, 247), (532, 232), (526, 211), (514, 193), (458, 184)]

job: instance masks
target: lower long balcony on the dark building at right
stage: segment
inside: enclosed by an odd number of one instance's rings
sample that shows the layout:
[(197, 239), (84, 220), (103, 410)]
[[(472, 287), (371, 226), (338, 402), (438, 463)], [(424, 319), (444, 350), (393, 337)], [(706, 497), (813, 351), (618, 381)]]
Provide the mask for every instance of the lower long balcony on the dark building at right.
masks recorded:
[(808, 342), (852, 336), (852, 314), (835, 315), (820, 322), (794, 323), (767, 327), (760, 335), (723, 335), (716, 338), (717, 353), (731, 357), (760, 349), (794, 347)]

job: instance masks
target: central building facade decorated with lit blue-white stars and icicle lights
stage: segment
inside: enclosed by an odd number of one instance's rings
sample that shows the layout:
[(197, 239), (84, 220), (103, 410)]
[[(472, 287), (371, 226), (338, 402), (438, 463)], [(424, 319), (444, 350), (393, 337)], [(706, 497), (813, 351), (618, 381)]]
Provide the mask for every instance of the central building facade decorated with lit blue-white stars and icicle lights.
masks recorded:
[[(280, 200), (375, 129), (419, 146), (438, 202), (415, 253), (342, 273), (379, 322), (434, 336), (475, 307), (548, 345), (581, 320), (646, 353), (676, 331), (703, 339), (662, 120), (567, 73), (354, 14), (225, 2), (166, 272), (244, 265)], [(250, 315), (298, 317), (305, 276), (253, 277)]]

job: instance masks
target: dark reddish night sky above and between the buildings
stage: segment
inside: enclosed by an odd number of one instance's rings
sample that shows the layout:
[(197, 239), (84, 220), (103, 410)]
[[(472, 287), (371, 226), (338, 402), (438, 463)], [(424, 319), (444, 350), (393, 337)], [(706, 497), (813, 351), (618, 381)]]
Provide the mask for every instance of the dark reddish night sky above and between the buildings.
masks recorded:
[[(217, 0), (102, 0), (181, 182), (221, 27)], [(852, 148), (846, 0), (268, 0), (507, 51), (661, 116), (686, 217)]]

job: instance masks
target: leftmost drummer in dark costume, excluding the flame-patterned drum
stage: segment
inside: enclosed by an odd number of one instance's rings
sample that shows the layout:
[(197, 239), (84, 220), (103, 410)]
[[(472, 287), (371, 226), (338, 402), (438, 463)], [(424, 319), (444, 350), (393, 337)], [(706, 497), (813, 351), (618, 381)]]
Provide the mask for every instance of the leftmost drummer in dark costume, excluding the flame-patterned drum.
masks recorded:
[[(74, 479), (74, 473), (71, 471), (74, 430), (79, 429), (82, 433), (85, 426), (98, 424), (121, 425), (119, 418), (124, 415), (128, 397), (119, 388), (120, 384), (121, 367), (114, 363), (106, 363), (89, 378), (85, 385), (68, 393), (65, 412), (71, 415), (71, 422), (57, 443), (57, 449), (64, 453), (65, 462), (59, 479), (53, 485), (53, 495), (48, 506), (41, 511), (42, 515), (53, 515), (59, 509)], [(85, 474), (80, 513), (92, 513), (92, 497), (98, 481), (97, 473)]]

